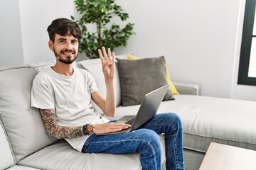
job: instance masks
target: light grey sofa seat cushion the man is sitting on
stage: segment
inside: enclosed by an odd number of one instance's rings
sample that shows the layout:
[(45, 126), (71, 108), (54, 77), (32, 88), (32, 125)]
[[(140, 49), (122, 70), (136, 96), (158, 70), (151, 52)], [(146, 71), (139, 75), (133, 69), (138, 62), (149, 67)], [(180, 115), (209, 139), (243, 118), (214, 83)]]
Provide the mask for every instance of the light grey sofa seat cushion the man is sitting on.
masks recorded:
[[(161, 136), (164, 140), (164, 136)], [(163, 160), (164, 162), (164, 160)], [(142, 169), (139, 154), (84, 154), (75, 151), (68, 142), (60, 140), (18, 162), (38, 169)], [(121, 168), (122, 167), (122, 168)]]

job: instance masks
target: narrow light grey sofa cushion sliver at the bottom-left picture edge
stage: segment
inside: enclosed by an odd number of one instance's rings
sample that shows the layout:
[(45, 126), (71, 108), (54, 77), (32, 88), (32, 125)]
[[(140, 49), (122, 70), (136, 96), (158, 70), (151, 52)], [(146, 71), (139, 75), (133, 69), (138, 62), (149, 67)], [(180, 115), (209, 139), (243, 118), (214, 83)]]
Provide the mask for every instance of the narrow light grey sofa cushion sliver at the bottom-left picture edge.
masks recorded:
[(14, 166), (14, 157), (11, 154), (11, 147), (9, 146), (4, 127), (0, 121), (0, 169), (7, 169)]

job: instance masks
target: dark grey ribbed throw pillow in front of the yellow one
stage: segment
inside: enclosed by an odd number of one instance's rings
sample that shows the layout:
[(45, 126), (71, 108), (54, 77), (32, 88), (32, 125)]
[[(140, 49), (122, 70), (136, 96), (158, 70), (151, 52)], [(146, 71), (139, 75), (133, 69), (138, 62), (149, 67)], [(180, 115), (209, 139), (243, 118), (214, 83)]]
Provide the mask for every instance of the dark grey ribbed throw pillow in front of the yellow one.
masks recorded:
[[(123, 106), (140, 104), (145, 94), (167, 84), (164, 57), (117, 61)], [(164, 101), (173, 99), (168, 89)]]

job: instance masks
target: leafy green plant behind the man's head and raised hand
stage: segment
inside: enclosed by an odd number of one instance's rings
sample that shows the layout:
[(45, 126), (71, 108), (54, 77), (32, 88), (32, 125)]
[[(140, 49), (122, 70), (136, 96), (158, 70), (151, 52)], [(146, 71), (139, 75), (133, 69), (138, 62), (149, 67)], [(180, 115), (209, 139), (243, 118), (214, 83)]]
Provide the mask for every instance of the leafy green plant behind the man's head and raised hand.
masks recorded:
[[(110, 25), (113, 17), (122, 21), (129, 18), (115, 0), (75, 0), (75, 7), (81, 18), (76, 21), (82, 29), (83, 37), (80, 40), (79, 52), (85, 52), (89, 58), (97, 58), (97, 49), (105, 46), (114, 50), (114, 47), (126, 46), (128, 39), (134, 35), (134, 23), (127, 23), (120, 28), (116, 23)], [(71, 16), (73, 21), (75, 18)], [(87, 29), (88, 24), (96, 26), (95, 32)]]

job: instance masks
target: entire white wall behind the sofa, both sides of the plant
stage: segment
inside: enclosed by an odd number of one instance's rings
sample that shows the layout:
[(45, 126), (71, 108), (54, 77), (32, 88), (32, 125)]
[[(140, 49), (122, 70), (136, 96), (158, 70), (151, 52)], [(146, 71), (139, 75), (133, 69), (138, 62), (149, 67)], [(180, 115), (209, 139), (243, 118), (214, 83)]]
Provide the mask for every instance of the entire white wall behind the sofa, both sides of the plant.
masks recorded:
[[(164, 55), (171, 79), (200, 84), (201, 95), (256, 101), (256, 86), (237, 85), (245, 0), (117, 3), (137, 33), (117, 55)], [(46, 28), (54, 18), (75, 13), (70, 0), (1, 0), (0, 9), (0, 65), (55, 60)]]

